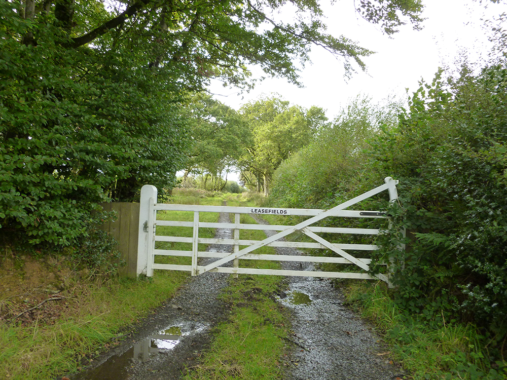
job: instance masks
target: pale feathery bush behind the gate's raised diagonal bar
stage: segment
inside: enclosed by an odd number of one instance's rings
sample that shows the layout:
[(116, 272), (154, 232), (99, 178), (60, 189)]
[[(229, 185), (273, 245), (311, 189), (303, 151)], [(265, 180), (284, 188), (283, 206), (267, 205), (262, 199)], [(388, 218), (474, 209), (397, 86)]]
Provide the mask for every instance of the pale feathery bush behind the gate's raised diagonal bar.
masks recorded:
[(329, 208), (374, 187), (376, 181), (364, 183), (365, 149), (381, 127), (396, 125), (398, 111), (395, 103), (379, 105), (363, 96), (350, 101), (275, 170), (273, 202), (277, 207)]

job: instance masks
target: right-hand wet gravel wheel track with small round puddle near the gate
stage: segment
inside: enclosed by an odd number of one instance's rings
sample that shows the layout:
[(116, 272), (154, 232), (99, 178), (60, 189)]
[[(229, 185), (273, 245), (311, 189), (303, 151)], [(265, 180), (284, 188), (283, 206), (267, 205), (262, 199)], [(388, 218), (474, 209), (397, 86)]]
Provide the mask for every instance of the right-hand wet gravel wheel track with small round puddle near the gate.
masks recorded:
[[(268, 224), (255, 217), (258, 223)], [(267, 236), (274, 231), (264, 231)], [(301, 255), (294, 248), (276, 247), (283, 255)], [(285, 270), (313, 271), (313, 263), (283, 262)], [(373, 326), (343, 305), (344, 296), (330, 279), (287, 277), (280, 302), (290, 311), (290, 350), (284, 360), (286, 380), (403, 379), (392, 364)], [(303, 297), (301, 296), (303, 295)], [(294, 301), (299, 296), (300, 301)], [(301, 301), (303, 299), (303, 301)]]

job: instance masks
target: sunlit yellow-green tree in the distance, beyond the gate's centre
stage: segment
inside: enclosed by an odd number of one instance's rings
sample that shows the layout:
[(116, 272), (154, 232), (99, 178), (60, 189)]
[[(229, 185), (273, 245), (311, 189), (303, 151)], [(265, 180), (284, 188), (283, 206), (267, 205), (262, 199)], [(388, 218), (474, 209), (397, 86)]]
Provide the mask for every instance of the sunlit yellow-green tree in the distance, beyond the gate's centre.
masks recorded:
[(239, 165), (242, 171), (257, 178), (258, 189), (262, 185), (265, 195), (276, 168), (308, 144), (327, 121), (321, 108), (306, 110), (275, 97), (245, 104), (241, 113), (248, 122), (253, 140)]

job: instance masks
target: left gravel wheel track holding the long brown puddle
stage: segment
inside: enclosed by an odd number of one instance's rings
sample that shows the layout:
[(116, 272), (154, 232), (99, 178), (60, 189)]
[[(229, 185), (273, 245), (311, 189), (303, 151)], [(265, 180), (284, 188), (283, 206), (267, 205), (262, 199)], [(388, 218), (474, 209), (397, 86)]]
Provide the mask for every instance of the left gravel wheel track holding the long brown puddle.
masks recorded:
[[(228, 222), (229, 214), (221, 214), (220, 222)], [(231, 230), (217, 229), (215, 238), (229, 239)], [(232, 252), (232, 246), (221, 246)], [(216, 249), (210, 245), (207, 250)], [(203, 258), (201, 264), (212, 259)], [(176, 380), (198, 364), (201, 353), (208, 349), (212, 330), (228, 314), (227, 306), (218, 299), (227, 286), (228, 274), (204, 273), (189, 281), (148, 318), (134, 327), (122, 344), (94, 358), (91, 368), (70, 380)], [(156, 339), (161, 333), (179, 330), (179, 338)], [(156, 347), (153, 347), (156, 346)], [(164, 348), (168, 347), (168, 348)], [(151, 351), (151, 352), (150, 352)], [(61, 377), (58, 378), (61, 380)]]

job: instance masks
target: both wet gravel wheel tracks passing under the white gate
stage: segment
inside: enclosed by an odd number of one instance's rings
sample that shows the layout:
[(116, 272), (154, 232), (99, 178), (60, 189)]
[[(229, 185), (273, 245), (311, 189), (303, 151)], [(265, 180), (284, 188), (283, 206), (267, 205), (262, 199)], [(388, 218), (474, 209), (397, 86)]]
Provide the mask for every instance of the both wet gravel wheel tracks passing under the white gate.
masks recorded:
[[(221, 221), (228, 219), (221, 215)], [(264, 220), (256, 218), (260, 223)], [(219, 229), (217, 237), (229, 238)], [(266, 234), (273, 232), (266, 231)], [(222, 247), (223, 248), (223, 247)], [(210, 249), (214, 249), (212, 246)], [(230, 247), (232, 251), (232, 246)], [(294, 254), (278, 248), (279, 254)], [(312, 270), (312, 264), (285, 263), (285, 269)], [(296, 267), (297, 266), (297, 267)], [(71, 380), (176, 380), (198, 364), (201, 352), (212, 339), (212, 328), (229, 310), (217, 299), (227, 286), (227, 274), (205, 273), (193, 277), (177, 295), (135, 326), (122, 344), (95, 358), (93, 368)], [(327, 279), (287, 277), (288, 290), (280, 302), (289, 310), (292, 334), (283, 358), (284, 380), (389, 380), (404, 378), (389, 362), (373, 328), (343, 306), (343, 295)], [(297, 294), (305, 302), (295, 305)], [(154, 335), (178, 331), (175, 339), (157, 340)], [(160, 337), (160, 336), (159, 336)], [(148, 353), (148, 347), (157, 353)], [(148, 359), (148, 360), (147, 360)]]

